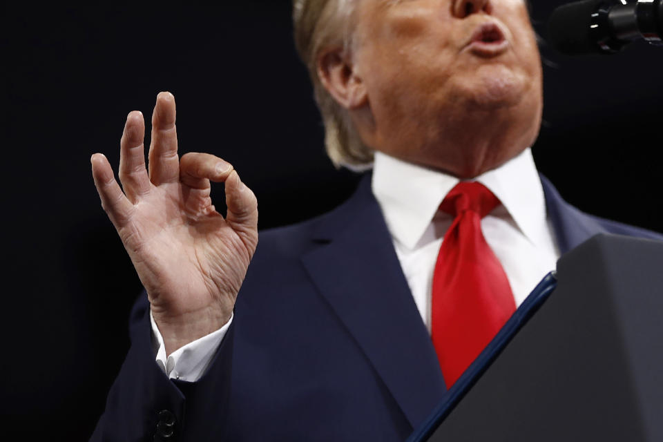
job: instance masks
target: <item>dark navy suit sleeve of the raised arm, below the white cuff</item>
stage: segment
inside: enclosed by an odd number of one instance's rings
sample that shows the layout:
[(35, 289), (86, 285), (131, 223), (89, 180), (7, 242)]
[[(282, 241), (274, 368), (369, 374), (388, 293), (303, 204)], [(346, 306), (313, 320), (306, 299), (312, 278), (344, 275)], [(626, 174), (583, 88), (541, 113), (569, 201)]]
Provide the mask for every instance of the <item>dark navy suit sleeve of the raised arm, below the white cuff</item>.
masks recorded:
[(230, 325), (198, 381), (173, 381), (155, 363), (149, 311), (143, 294), (131, 311), (131, 347), (90, 441), (221, 439), (228, 414), (235, 327)]

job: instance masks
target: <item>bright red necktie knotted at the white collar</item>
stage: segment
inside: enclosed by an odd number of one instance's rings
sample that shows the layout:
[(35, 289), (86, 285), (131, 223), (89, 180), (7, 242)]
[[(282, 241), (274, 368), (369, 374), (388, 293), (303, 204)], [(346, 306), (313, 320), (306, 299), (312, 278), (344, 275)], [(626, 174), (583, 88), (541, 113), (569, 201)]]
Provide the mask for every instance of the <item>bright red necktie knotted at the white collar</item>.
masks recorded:
[(516, 309), (506, 273), (481, 233), (499, 205), (483, 184), (460, 182), (440, 205), (454, 216), (433, 275), (432, 340), (451, 387)]

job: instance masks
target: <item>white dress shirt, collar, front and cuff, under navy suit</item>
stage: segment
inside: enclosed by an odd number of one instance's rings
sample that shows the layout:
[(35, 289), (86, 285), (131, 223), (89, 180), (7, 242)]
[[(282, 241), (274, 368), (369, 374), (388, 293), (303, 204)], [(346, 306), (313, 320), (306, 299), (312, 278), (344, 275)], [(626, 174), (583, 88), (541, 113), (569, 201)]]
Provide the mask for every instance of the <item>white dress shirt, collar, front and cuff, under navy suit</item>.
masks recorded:
[[(502, 203), (481, 220), (481, 229), (520, 305), (541, 278), (555, 269), (559, 258), (546, 217), (544, 189), (530, 149), (473, 181), (488, 187)], [(433, 271), (444, 234), (452, 223), (451, 216), (439, 211), (439, 206), (458, 182), (451, 175), (375, 154), (372, 190), (429, 332)], [(204, 374), (233, 320), (231, 317), (221, 329), (166, 357), (163, 338), (151, 314), (150, 318), (157, 365), (170, 378), (191, 382)]]

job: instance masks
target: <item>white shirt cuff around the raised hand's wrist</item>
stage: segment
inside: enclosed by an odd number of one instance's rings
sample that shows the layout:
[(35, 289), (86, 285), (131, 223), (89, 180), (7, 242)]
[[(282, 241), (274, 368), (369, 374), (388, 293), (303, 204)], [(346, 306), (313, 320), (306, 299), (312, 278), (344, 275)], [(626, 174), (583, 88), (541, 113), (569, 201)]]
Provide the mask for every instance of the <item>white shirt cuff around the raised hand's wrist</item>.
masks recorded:
[(215, 332), (196, 339), (191, 343), (180, 347), (166, 358), (166, 346), (164, 338), (159, 332), (157, 323), (154, 322), (152, 310), (150, 309), (150, 323), (152, 324), (152, 345), (155, 353), (156, 363), (171, 379), (195, 382), (205, 374), (207, 366), (218, 349), (223, 337), (233, 322), (235, 314), (231, 314), (227, 323)]

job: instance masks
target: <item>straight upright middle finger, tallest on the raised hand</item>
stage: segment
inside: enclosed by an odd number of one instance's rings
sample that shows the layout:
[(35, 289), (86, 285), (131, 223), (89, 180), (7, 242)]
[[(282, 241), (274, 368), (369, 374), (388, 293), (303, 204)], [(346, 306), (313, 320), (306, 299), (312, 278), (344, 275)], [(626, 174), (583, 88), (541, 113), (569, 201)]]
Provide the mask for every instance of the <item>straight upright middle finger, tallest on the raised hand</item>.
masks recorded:
[(177, 156), (175, 97), (169, 92), (157, 95), (157, 104), (152, 113), (149, 161), (150, 180), (155, 186), (179, 180), (180, 158)]

